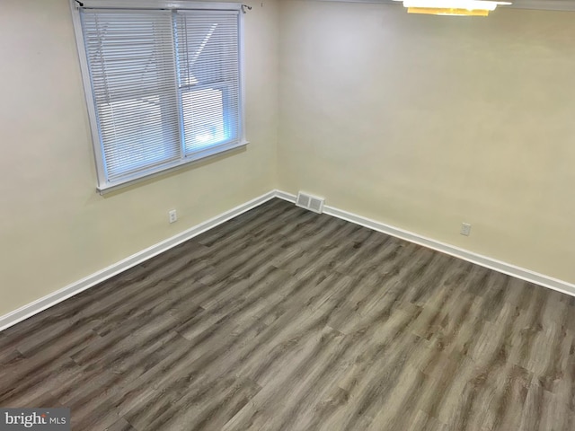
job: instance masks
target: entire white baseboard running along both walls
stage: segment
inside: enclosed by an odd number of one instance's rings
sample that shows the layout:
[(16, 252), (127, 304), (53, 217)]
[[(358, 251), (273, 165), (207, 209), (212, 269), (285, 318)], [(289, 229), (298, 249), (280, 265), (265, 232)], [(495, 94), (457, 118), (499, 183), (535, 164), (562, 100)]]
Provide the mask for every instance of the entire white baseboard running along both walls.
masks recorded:
[[(200, 233), (204, 233), (219, 224), (225, 223), (235, 216), (239, 216), (240, 214), (243, 214), (254, 207), (259, 207), (261, 204), (272, 198), (281, 198), (287, 200), (288, 202), (296, 202), (296, 195), (292, 195), (291, 193), (287, 193), (281, 190), (271, 190), (270, 192), (261, 195), (259, 198), (252, 199), (245, 204), (234, 207), (233, 209), (230, 209), (229, 211), (226, 211), (219, 216), (215, 216), (204, 223), (191, 227), (182, 233), (178, 233), (172, 238), (168, 238), (163, 242), (158, 242), (157, 244), (148, 247), (146, 250), (138, 251), (136, 254), (133, 254), (126, 259), (120, 260), (108, 268), (104, 268), (101, 271), (95, 272), (88, 277), (84, 277), (81, 280), (72, 283), (71, 285), (63, 287), (62, 289), (59, 289), (52, 294), (46, 295), (43, 298), (34, 301), (33, 303), (26, 304), (18, 310), (4, 314), (4, 316), (0, 316), (0, 331), (13, 326), (19, 321), (28, 319), (34, 314), (42, 312), (47, 308), (56, 305), (57, 303), (61, 303), (67, 298), (77, 295), (92, 286), (102, 283), (102, 281), (114, 277), (115, 275), (125, 271), (128, 268), (132, 268), (147, 259), (151, 259), (164, 251), (170, 250), (176, 245), (181, 244), (181, 242), (186, 242), (191, 238), (198, 236)], [(456, 258), (473, 262), (485, 268), (491, 268), (512, 277), (521, 278), (539, 286), (548, 287), (558, 292), (562, 292), (563, 294), (575, 296), (575, 285), (572, 285), (566, 281), (559, 280), (557, 278), (548, 277), (543, 274), (530, 271), (529, 269), (519, 268), (515, 265), (510, 265), (509, 263), (502, 262), (497, 259), (491, 259), (486, 256), (473, 253), (473, 251), (466, 251), (453, 245), (449, 245), (444, 242), (438, 242), (436, 240), (420, 236), (417, 233), (404, 231), (403, 229), (391, 226), (389, 224), (376, 222), (375, 220), (371, 220), (367, 217), (358, 216), (356, 214), (349, 213), (348, 211), (344, 211), (335, 207), (324, 206), (323, 213), (329, 216), (341, 218), (342, 220), (347, 220), (351, 223), (365, 226), (377, 232), (387, 233), (388, 235), (392, 235), (396, 238), (401, 238), (405, 241), (415, 242), (416, 244), (428, 247), (429, 249), (441, 251)]]

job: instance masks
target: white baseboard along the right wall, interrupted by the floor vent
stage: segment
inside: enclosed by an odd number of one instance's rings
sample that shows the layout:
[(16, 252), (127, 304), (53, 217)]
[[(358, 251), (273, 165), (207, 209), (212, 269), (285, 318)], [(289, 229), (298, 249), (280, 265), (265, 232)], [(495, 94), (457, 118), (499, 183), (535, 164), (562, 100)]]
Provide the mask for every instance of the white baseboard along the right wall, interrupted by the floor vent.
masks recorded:
[[(296, 202), (296, 195), (286, 193), (285, 191), (276, 190), (275, 196), (277, 198), (287, 200), (288, 202)], [(323, 206), (323, 213), (329, 216), (341, 218), (342, 220), (347, 220), (351, 223), (365, 226), (377, 232), (387, 233), (388, 235), (392, 235), (396, 238), (401, 238), (405, 241), (415, 242), (416, 244), (420, 244), (429, 249), (441, 251), (442, 253), (446, 253), (450, 256), (467, 260), (468, 262), (472, 262), (477, 265), (481, 265), (482, 267), (490, 268), (503, 274), (535, 283), (539, 286), (548, 287), (558, 292), (562, 292), (563, 294), (575, 296), (575, 285), (572, 285), (571, 283), (563, 280), (559, 280), (557, 278), (548, 277), (544, 274), (539, 274), (526, 268), (520, 268), (497, 259), (491, 259), (487, 256), (482, 256), (481, 254), (474, 253), (473, 251), (460, 249), (459, 247), (446, 244), (445, 242), (438, 242), (436, 240), (420, 236), (417, 233), (405, 231), (389, 224), (376, 222), (375, 220), (371, 220), (367, 217), (358, 216), (356, 214), (349, 213), (348, 211), (344, 211), (335, 207), (325, 205)]]

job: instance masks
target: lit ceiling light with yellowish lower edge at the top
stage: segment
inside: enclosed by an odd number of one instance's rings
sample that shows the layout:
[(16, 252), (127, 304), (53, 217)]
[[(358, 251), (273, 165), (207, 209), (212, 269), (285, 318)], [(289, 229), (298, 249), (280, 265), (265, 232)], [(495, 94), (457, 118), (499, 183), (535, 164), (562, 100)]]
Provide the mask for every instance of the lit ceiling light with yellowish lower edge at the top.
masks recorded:
[(490, 0), (403, 0), (408, 13), (433, 15), (487, 16), (499, 4), (510, 3)]

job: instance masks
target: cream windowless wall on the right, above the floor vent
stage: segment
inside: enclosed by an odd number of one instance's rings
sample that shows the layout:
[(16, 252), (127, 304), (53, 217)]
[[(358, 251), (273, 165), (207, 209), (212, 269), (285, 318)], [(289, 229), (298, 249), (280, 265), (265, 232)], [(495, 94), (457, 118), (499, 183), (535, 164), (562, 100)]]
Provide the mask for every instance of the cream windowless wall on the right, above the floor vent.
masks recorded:
[(279, 188), (575, 283), (573, 22), (282, 2)]

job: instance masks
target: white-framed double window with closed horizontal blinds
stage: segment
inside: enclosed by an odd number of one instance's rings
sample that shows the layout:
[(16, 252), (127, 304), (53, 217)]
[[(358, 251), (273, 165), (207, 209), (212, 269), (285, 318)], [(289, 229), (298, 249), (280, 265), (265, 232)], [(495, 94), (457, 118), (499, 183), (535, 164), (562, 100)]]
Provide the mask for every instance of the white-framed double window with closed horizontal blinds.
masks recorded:
[(155, 3), (76, 9), (101, 191), (245, 145), (237, 6)]

